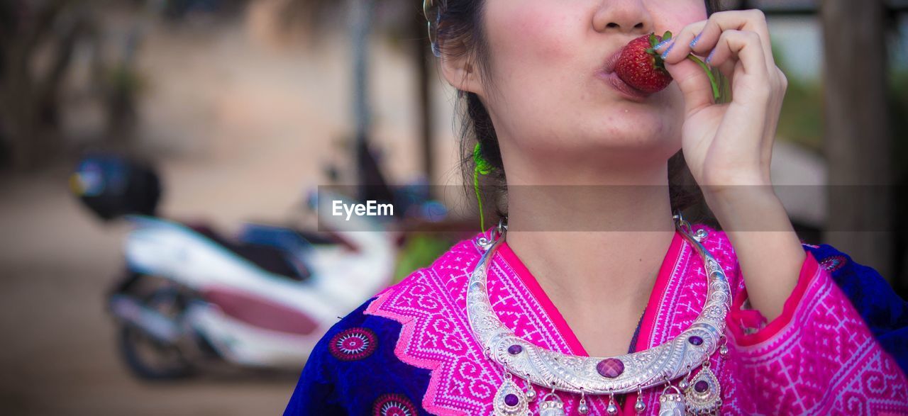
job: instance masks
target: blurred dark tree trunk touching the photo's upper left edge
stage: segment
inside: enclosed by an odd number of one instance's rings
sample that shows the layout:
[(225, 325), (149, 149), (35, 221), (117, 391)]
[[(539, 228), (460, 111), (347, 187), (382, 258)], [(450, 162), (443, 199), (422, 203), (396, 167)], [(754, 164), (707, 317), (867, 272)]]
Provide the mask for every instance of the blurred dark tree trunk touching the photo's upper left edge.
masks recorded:
[[(5, 1), (0, 5), (0, 139), (14, 169), (28, 169), (59, 148), (58, 92), (76, 39), (77, 15), (61, 19), (73, 1)], [(35, 71), (35, 55), (50, 45), (50, 63)]]

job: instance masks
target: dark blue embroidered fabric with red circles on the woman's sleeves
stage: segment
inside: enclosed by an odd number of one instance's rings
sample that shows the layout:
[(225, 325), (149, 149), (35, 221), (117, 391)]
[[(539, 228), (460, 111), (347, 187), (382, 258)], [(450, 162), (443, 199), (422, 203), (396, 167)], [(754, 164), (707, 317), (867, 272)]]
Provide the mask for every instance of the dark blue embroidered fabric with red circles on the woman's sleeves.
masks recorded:
[[(873, 336), (908, 373), (908, 303), (872, 267), (830, 245), (803, 247), (831, 272)], [(315, 345), (284, 416), (429, 414), (421, 407), (429, 370), (394, 355), (401, 325), (363, 314), (374, 299), (334, 324)]]

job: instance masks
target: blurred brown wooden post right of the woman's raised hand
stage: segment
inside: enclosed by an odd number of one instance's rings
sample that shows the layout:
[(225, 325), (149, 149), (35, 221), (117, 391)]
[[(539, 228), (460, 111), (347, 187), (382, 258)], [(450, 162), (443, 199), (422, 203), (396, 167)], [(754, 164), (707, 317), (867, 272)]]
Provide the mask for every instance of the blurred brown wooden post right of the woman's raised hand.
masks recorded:
[(891, 132), (882, 0), (824, 0), (824, 241), (892, 280)]

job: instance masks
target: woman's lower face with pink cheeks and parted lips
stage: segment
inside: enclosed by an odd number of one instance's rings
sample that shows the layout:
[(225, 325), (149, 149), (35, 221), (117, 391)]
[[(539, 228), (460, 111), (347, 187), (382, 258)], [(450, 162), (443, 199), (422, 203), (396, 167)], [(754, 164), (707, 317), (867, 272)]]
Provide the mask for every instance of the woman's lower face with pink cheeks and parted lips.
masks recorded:
[(604, 79), (607, 62), (640, 35), (704, 19), (703, 0), (487, 0), (486, 76), (495, 92), (478, 93), (506, 167), (510, 149), (664, 163), (681, 147), (680, 90), (673, 82), (642, 100), (627, 97)]

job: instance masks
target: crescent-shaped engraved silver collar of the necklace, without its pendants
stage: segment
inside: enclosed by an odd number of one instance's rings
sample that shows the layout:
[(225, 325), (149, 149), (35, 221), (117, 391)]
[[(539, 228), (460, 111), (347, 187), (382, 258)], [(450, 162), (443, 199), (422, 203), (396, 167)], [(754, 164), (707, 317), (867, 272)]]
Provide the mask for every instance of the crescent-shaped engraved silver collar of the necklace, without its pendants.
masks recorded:
[[(703, 311), (675, 339), (617, 357), (582, 357), (548, 350), (518, 337), (492, 310), (486, 286), (489, 262), (507, 232), (507, 224), (503, 222), (493, 228), (490, 238), (480, 237), (477, 241), (485, 253), (479, 258), (467, 287), (467, 314), (473, 334), (489, 358), (501, 364), (507, 372), (560, 391), (586, 394), (637, 392), (638, 389), (665, 385), (666, 381), (685, 376), (690, 369), (705, 363), (716, 352), (725, 333), (725, 315), (731, 307), (731, 294), (722, 267), (700, 244), (706, 235), (692, 235), (690, 225), (679, 215), (675, 218), (676, 228), (703, 257), (708, 280)], [(698, 343), (691, 342), (691, 337), (695, 337)], [(519, 353), (508, 352), (512, 345), (520, 346), (511, 350), (519, 350)], [(597, 365), (609, 358), (624, 364), (624, 370), (611, 378), (597, 371)]]

